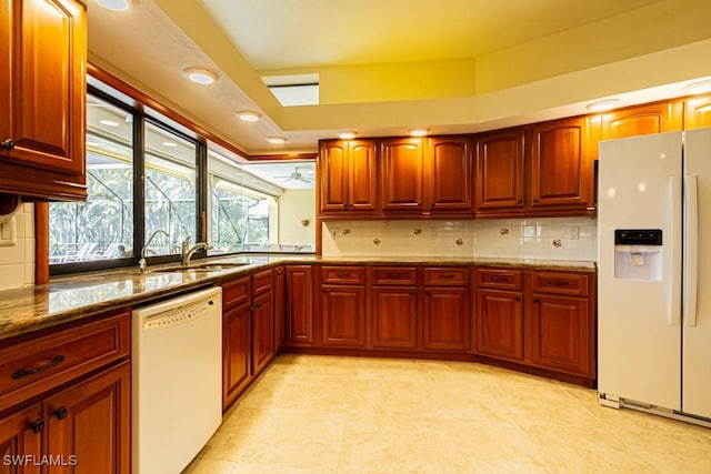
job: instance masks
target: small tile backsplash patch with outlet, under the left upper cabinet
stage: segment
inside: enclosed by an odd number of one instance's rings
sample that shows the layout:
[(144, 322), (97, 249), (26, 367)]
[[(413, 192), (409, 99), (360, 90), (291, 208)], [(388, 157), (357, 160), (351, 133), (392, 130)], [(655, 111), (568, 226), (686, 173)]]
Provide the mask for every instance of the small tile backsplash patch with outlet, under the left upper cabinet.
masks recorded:
[(22, 204), (12, 219), (17, 243), (0, 245), (0, 290), (34, 283), (34, 204)]

